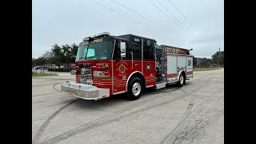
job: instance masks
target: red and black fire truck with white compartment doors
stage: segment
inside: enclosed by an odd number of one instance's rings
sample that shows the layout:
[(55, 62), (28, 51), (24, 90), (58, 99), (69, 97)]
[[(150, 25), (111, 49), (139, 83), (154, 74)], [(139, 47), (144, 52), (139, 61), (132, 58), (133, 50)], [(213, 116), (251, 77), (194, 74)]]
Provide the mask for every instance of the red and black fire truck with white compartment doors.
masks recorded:
[(62, 84), (62, 92), (87, 100), (126, 93), (130, 100), (146, 88), (186, 84), (193, 77), (190, 50), (157, 46), (156, 40), (134, 34), (110, 33), (84, 38), (75, 62), (76, 82)]

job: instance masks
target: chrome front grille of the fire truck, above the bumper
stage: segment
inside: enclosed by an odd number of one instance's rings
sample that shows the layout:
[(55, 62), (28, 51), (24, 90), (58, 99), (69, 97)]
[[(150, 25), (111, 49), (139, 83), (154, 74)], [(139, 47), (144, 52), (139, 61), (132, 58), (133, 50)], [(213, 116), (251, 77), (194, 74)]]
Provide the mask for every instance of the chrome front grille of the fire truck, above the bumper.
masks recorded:
[(90, 63), (78, 65), (79, 82), (86, 85), (92, 85), (92, 72)]

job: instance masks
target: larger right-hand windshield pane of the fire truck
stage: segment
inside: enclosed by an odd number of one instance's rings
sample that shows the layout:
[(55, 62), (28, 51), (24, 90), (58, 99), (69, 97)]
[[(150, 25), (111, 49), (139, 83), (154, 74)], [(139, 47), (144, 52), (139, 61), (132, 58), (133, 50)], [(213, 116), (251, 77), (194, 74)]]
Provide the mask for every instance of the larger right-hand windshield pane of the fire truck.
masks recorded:
[(113, 42), (98, 42), (88, 46), (86, 60), (111, 59)]

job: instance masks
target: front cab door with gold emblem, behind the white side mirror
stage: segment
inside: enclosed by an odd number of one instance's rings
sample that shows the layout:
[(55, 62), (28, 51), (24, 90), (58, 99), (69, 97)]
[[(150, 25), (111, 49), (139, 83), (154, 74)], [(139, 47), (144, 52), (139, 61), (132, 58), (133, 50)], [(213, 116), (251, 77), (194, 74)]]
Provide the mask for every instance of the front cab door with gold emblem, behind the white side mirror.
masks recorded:
[[(121, 45), (126, 49), (121, 50)], [(142, 72), (142, 38), (132, 38), (130, 42), (116, 39), (113, 55), (113, 94), (126, 91), (126, 83), (134, 71)], [(143, 73), (142, 73), (143, 74)]]

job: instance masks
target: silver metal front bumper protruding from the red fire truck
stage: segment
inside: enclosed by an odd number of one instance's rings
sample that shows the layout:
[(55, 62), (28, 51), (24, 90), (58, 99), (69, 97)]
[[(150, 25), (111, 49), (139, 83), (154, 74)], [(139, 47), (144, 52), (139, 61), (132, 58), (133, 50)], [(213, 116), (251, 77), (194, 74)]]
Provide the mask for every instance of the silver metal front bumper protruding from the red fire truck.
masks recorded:
[(98, 100), (100, 98), (110, 97), (110, 89), (75, 82), (65, 82), (62, 84), (62, 92), (86, 100)]

